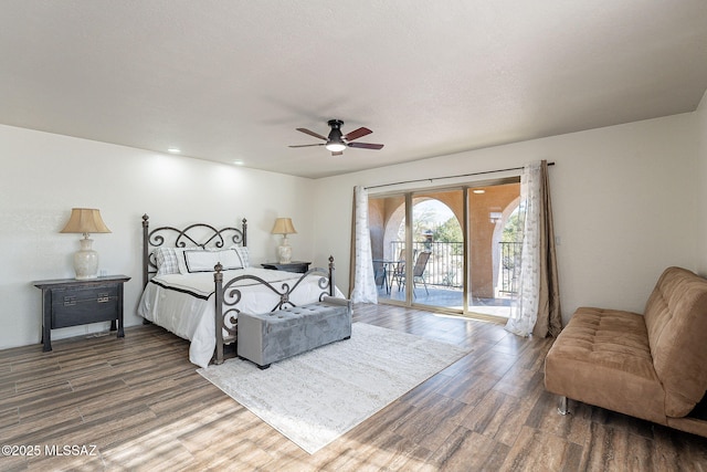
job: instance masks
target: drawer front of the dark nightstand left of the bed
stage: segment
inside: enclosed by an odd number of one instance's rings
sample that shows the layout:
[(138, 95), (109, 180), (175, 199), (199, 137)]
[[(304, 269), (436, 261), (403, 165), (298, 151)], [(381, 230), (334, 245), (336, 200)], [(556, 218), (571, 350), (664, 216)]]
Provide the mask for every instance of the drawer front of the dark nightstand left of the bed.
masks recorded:
[(115, 284), (52, 290), (52, 328), (117, 318), (118, 287)]

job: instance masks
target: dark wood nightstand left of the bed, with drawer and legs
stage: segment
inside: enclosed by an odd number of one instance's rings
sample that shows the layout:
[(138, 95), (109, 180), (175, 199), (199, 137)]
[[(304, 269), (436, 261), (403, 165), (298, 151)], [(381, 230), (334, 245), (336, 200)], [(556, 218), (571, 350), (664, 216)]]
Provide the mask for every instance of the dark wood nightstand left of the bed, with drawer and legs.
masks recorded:
[[(42, 290), (43, 350), (52, 350), (52, 329), (110, 322), (110, 331), (123, 331), (123, 284), (130, 277), (59, 279), (32, 282)], [(117, 327), (116, 327), (116, 322)]]

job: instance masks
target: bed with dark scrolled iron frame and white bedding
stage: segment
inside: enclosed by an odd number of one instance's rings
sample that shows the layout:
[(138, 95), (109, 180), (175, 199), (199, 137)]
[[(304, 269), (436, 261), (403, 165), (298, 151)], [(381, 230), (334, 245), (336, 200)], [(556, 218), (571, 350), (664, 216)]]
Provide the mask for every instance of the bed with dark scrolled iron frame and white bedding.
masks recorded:
[(247, 221), (241, 228), (196, 223), (149, 228), (143, 216), (143, 285), (137, 313), (190, 340), (189, 360), (223, 363), (224, 345), (238, 342), (238, 315), (267, 313), (344, 297), (327, 269), (304, 274), (251, 266)]

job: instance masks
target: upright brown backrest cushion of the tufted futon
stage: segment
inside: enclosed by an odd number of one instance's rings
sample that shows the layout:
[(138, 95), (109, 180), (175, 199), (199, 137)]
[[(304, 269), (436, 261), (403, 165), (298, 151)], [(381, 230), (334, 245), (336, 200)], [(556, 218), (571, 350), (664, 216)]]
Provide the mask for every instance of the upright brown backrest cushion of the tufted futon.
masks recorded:
[(684, 417), (707, 390), (707, 280), (666, 269), (646, 303), (645, 324), (665, 415)]

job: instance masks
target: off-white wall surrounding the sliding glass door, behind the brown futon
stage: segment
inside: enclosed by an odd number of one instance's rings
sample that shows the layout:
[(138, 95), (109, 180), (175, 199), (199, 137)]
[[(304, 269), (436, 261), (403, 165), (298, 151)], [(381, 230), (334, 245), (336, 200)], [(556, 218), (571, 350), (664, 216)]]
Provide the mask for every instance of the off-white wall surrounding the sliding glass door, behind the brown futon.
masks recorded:
[[(321, 218), (316, 220), (315, 253), (319, 258), (325, 251), (335, 254), (338, 283), (346, 290), (356, 185), (504, 169), (547, 159), (556, 162), (550, 168), (550, 188), (556, 234), (561, 238), (558, 264), (564, 319), (582, 305), (643, 312), (666, 266), (696, 269), (700, 175), (695, 120), (695, 114), (683, 114), (319, 179), (315, 204)], [(703, 162), (701, 181), (704, 167)], [(422, 185), (397, 188), (404, 187)], [(705, 203), (700, 204), (704, 214)]]

